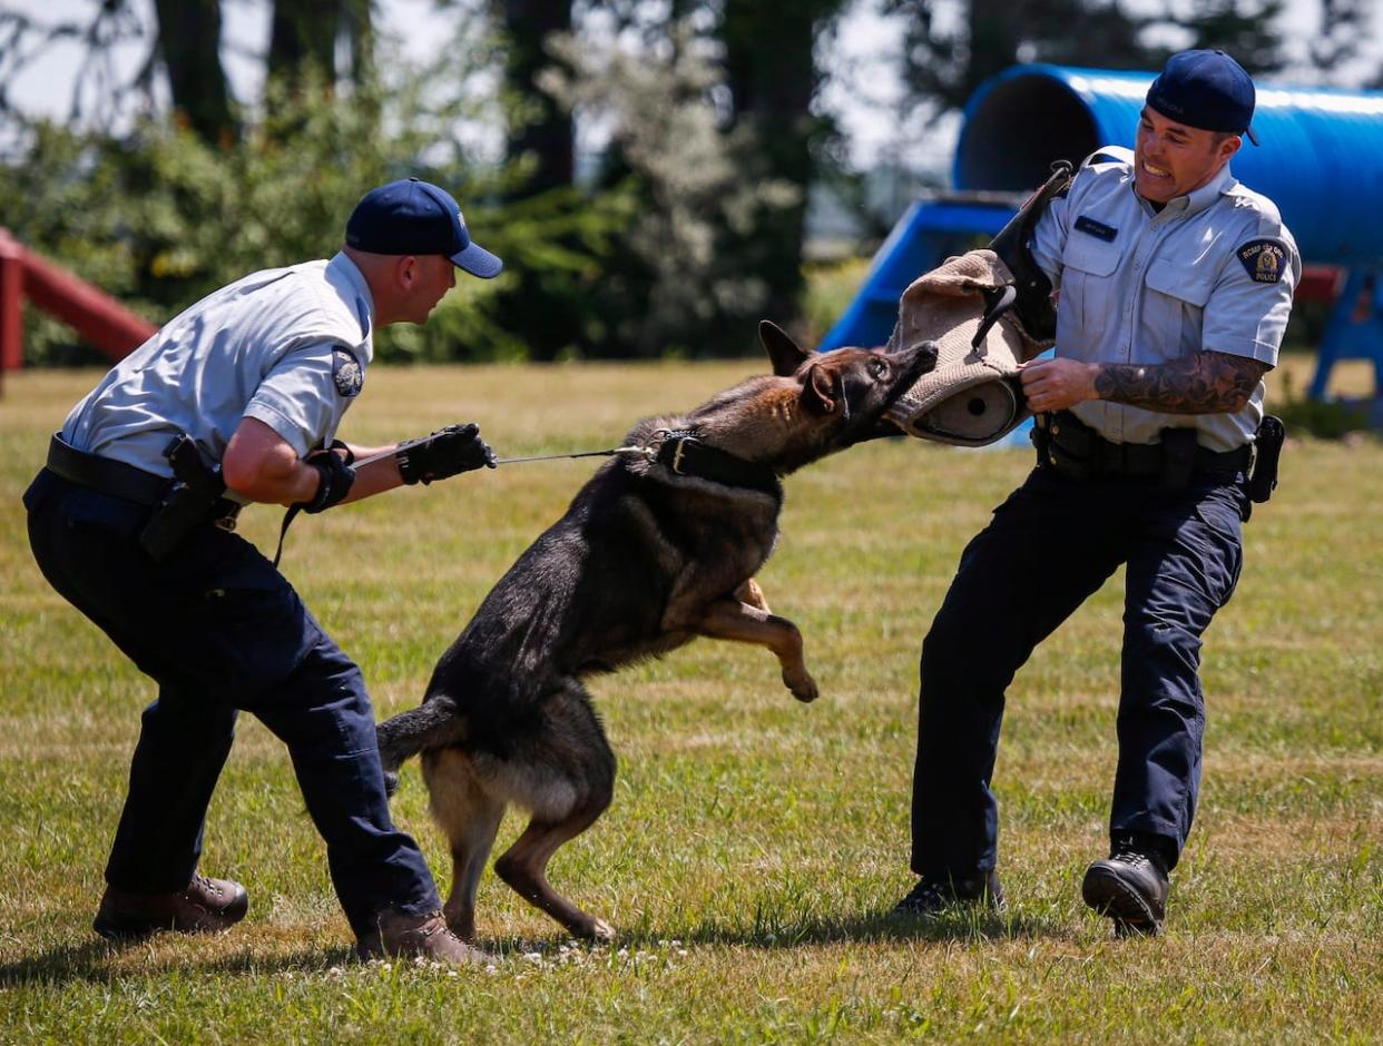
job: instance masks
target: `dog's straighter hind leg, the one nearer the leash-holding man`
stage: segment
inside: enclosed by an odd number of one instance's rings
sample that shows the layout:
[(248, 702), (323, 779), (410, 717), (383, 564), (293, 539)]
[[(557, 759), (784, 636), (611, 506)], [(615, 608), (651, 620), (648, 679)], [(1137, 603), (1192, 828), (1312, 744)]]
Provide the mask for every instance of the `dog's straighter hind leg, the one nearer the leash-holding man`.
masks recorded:
[(451, 844), (451, 894), (443, 913), (456, 937), (474, 941), (476, 888), (495, 846), (505, 801), (484, 789), (470, 757), (459, 749), (423, 753), (423, 781), (433, 818)]

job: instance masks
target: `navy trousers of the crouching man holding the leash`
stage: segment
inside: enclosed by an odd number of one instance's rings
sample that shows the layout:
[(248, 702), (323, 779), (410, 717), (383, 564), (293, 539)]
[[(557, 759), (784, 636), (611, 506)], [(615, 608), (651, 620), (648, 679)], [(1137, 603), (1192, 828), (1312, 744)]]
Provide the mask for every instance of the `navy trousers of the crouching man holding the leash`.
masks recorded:
[(105, 871), (111, 886), (187, 887), (243, 709), (288, 745), (357, 935), (384, 908), (440, 908), (422, 854), (390, 821), (360, 669), (254, 546), (206, 525), (154, 564), (138, 547), (147, 506), (47, 470), (24, 500), (44, 576), (159, 684)]

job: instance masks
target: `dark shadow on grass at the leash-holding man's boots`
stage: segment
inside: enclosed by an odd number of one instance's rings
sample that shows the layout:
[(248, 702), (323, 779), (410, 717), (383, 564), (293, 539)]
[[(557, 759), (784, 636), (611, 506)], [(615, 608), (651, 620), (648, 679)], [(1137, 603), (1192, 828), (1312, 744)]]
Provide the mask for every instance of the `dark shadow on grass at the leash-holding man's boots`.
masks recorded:
[[(173, 940), (173, 938), (154, 938)], [(210, 958), (189, 956), (176, 948), (149, 955), (137, 967), (126, 967), (120, 958), (148, 948), (145, 942), (129, 945), (106, 941), (87, 941), (50, 948), (0, 966), (0, 988), (33, 984), (68, 984), (72, 981), (115, 981), (126, 977), (145, 977), (195, 967), (203, 973), (272, 974), (286, 970), (319, 973), (333, 966), (355, 962), (351, 948), (311, 948), (289, 953), (263, 955), (246, 949)]]

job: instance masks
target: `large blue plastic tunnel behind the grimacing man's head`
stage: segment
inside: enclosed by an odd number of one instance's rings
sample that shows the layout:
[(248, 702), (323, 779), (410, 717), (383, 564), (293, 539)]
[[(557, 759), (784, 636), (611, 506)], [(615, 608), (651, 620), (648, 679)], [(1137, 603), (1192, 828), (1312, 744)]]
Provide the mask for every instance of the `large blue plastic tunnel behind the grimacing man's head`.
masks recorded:
[[(1133, 148), (1155, 75), (1018, 65), (986, 80), (965, 106), (956, 188), (1028, 192), (1052, 160)], [(1383, 91), (1256, 86), (1261, 145), (1245, 138), (1235, 177), (1278, 205), (1304, 260), (1383, 260)]]

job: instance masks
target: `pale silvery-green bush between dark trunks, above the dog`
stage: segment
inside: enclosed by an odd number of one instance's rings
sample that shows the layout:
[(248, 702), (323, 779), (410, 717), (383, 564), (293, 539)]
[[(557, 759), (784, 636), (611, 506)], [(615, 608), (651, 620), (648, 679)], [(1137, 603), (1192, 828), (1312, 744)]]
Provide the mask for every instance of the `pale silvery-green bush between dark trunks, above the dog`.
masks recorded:
[(754, 175), (761, 138), (750, 126), (722, 127), (721, 73), (689, 25), (643, 53), (570, 36), (549, 46), (563, 69), (544, 87), (609, 122), (622, 167), (614, 184), (636, 202), (591, 303), (606, 354), (744, 354), (770, 301), (745, 245), (799, 209), (802, 188)]

